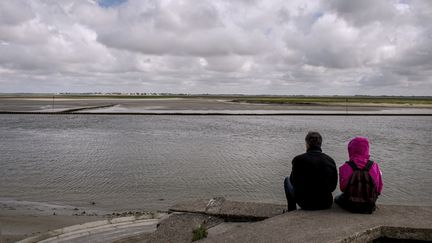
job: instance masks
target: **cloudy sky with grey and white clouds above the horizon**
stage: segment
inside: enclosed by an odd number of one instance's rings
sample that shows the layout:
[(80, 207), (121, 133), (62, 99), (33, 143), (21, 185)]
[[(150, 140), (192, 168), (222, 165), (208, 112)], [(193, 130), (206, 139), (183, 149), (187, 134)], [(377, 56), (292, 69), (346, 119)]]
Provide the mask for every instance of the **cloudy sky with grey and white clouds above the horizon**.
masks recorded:
[(1, 0), (0, 92), (432, 95), (432, 1)]

